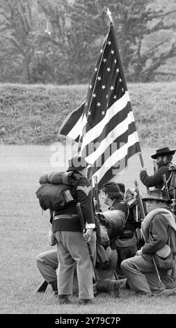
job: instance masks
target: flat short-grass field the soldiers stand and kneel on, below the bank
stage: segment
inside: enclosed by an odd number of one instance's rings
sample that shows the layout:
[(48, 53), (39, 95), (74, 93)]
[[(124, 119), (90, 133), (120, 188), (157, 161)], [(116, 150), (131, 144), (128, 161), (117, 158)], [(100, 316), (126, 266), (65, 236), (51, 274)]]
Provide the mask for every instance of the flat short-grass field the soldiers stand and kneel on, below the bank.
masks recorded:
[[(144, 148), (143, 159), (152, 173), (150, 155), (155, 149)], [(51, 288), (44, 295), (35, 293), (42, 277), (35, 266), (35, 257), (51, 248), (47, 236), (50, 228), (49, 213), (40, 209), (35, 191), (40, 174), (56, 170), (51, 167), (52, 151), (46, 146), (0, 146), (0, 208), (1, 208), (1, 304), (0, 313), (176, 313), (175, 297), (136, 297), (123, 290), (119, 299), (104, 294), (95, 298), (95, 305), (74, 304), (59, 306)], [(63, 169), (64, 167), (60, 167)], [(139, 181), (140, 161), (134, 156), (119, 182), (134, 188)]]

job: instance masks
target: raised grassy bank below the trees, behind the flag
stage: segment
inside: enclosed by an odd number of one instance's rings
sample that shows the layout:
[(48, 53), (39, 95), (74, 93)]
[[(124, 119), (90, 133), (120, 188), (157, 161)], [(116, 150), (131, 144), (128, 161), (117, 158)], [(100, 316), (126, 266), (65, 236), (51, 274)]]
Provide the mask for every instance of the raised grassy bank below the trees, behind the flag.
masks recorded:
[[(0, 84), (0, 143), (58, 141), (63, 119), (82, 103), (87, 89), (87, 85)], [(128, 89), (141, 144), (175, 144), (175, 82), (129, 84)]]

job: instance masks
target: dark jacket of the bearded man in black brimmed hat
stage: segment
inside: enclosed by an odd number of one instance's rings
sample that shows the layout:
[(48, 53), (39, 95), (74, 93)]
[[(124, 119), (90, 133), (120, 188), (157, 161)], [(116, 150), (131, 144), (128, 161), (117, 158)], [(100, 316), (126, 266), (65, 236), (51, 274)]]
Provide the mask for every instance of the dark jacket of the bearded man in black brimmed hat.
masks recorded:
[[(168, 166), (161, 166), (159, 170), (150, 177), (148, 176), (146, 171), (142, 171), (140, 173), (141, 182), (147, 187), (156, 187), (161, 189), (163, 187), (163, 177), (162, 174), (166, 174), (166, 179), (170, 176), (170, 171), (168, 171)], [(169, 185), (169, 184), (168, 184)]]

